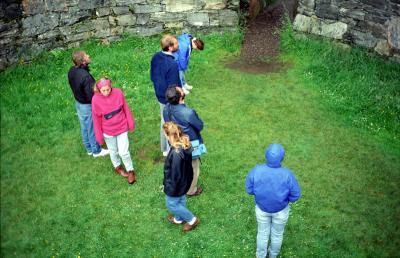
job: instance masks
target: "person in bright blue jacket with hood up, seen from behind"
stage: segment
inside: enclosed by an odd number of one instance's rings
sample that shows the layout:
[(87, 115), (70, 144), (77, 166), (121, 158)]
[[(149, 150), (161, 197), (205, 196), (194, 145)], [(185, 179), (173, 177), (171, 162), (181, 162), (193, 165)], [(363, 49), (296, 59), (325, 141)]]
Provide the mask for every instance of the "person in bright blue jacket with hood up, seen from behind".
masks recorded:
[(265, 153), (267, 163), (255, 166), (246, 177), (246, 192), (254, 195), (256, 202), (257, 258), (278, 256), (283, 232), (289, 218), (289, 202), (300, 198), (300, 186), (293, 173), (281, 162), (285, 150), (280, 144), (271, 144)]

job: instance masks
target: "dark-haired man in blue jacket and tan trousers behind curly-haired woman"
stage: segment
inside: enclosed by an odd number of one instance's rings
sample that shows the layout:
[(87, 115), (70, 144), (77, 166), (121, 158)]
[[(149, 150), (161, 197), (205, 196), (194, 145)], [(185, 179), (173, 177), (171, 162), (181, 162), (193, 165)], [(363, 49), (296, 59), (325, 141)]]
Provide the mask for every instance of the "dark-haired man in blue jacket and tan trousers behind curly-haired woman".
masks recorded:
[[(185, 104), (185, 93), (182, 88), (168, 87), (165, 93), (168, 104), (164, 107), (164, 120), (178, 124), (183, 132), (189, 136), (190, 141), (199, 140), (203, 142), (200, 131), (203, 130), (203, 121), (199, 118), (196, 111)], [(196, 196), (203, 192), (203, 188), (197, 186), (200, 175), (200, 159), (192, 160), (193, 181), (187, 192), (187, 196)]]

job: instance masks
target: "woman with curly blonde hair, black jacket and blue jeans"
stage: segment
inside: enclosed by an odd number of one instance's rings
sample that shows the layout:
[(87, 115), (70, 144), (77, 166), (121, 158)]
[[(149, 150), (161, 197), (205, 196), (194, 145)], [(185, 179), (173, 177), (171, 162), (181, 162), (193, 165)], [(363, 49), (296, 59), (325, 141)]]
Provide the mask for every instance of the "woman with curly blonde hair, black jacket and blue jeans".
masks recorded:
[(167, 219), (180, 225), (184, 221), (183, 231), (194, 229), (200, 220), (186, 207), (186, 192), (193, 179), (192, 148), (189, 137), (173, 122), (163, 124), (163, 130), (171, 148), (164, 164), (164, 193), (166, 206), (172, 213)]

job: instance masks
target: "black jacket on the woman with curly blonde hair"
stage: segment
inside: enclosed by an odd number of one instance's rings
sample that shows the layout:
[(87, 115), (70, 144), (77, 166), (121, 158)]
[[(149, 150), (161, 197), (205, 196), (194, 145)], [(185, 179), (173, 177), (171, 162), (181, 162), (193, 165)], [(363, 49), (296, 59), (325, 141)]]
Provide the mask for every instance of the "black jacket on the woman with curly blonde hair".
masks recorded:
[(175, 149), (171, 146), (164, 164), (164, 193), (171, 197), (185, 195), (192, 180), (192, 149)]

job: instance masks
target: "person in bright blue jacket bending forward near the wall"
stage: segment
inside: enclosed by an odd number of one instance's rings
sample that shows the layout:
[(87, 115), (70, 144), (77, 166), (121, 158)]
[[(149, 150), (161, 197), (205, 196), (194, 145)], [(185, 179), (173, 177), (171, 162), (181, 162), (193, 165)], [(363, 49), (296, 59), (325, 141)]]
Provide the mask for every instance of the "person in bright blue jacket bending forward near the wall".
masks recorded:
[[(193, 49), (203, 50), (204, 42), (201, 39), (195, 38), (190, 34), (183, 33), (178, 37), (179, 49), (174, 53), (174, 57), (179, 67), (179, 78), (181, 80), (182, 87), (189, 91), (193, 86), (186, 83), (185, 72), (188, 69), (189, 58), (192, 54)], [(187, 92), (185, 92), (188, 94)]]

